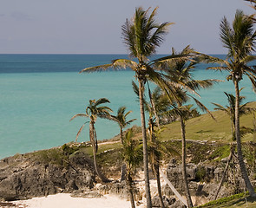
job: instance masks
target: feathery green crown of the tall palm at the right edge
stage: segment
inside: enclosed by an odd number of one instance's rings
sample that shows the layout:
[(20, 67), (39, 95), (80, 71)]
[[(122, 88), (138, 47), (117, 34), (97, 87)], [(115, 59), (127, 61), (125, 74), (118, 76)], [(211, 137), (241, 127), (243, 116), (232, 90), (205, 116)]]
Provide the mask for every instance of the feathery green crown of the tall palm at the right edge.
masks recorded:
[(220, 40), (227, 49), (227, 60), (209, 55), (202, 55), (207, 62), (219, 63), (219, 66), (209, 67), (215, 70), (226, 70), (229, 75), (226, 80), (241, 81), (246, 75), (253, 84), (256, 92), (256, 69), (248, 63), (256, 59), (254, 51), (256, 32), (253, 31), (253, 20), (245, 16), (243, 11), (237, 10), (232, 26), (226, 17), (220, 23)]

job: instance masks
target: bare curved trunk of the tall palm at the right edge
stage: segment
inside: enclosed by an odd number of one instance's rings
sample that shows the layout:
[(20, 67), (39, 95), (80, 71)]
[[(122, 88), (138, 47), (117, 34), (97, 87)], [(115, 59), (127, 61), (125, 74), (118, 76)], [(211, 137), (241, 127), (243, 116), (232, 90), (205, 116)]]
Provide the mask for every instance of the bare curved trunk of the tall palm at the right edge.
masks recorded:
[(251, 197), (256, 197), (256, 193), (253, 190), (253, 185), (251, 184), (251, 181), (248, 177), (248, 173), (246, 171), (246, 165), (243, 159), (243, 153), (242, 153), (242, 146), (241, 146), (241, 139), (240, 139), (240, 89), (239, 89), (239, 82), (237, 80), (234, 82), (234, 88), (235, 88), (235, 137), (236, 137), (236, 143), (237, 143), (237, 153), (238, 153), (238, 160), (240, 164), (240, 171), (242, 174), (242, 178), (245, 181), (246, 188), (250, 194)]

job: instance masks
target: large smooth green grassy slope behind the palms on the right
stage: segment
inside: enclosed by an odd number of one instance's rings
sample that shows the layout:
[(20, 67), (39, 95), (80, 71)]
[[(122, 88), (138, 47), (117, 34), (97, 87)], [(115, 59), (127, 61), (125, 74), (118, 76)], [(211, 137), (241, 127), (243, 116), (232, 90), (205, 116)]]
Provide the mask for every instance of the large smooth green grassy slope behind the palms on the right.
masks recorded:
[[(256, 102), (253, 102), (252, 107), (256, 107)], [(222, 143), (232, 141), (231, 121), (229, 116), (221, 111), (214, 111), (211, 118), (209, 114), (202, 114), (199, 117), (187, 120), (186, 134), (187, 140), (210, 140)], [(240, 118), (240, 127), (253, 128), (253, 115), (247, 114)], [(161, 134), (163, 140), (180, 140), (181, 139), (181, 124), (179, 121), (167, 124)], [(242, 141), (253, 140), (252, 133), (246, 133)]]

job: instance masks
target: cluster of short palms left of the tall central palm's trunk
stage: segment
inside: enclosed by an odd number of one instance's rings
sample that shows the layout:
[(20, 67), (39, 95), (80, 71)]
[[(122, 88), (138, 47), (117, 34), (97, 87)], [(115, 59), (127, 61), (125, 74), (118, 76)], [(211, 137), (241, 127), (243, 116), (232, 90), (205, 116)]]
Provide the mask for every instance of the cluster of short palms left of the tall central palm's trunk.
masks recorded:
[(93, 157), (94, 157), (94, 166), (95, 172), (97, 176), (102, 180), (104, 183), (111, 182), (101, 171), (101, 169), (97, 166), (96, 162), (96, 153), (98, 150), (98, 142), (97, 136), (95, 131), (95, 122), (97, 117), (107, 120), (114, 120), (118, 123), (120, 127), (120, 136), (121, 136), (121, 144), (123, 145), (123, 160), (126, 165), (126, 179), (128, 182), (128, 192), (130, 193), (130, 201), (132, 207), (135, 207), (135, 199), (133, 193), (133, 179), (132, 176), (135, 172), (135, 168), (140, 165), (141, 163), (141, 146), (139, 140), (133, 140), (133, 131), (130, 129), (126, 134), (125, 137), (123, 136), (123, 128), (127, 127), (131, 124), (135, 119), (127, 120), (128, 114), (132, 111), (126, 112), (126, 107), (119, 107), (117, 110), (117, 114), (113, 115), (110, 114), (112, 111), (111, 108), (107, 106), (102, 106), (102, 104), (109, 103), (107, 98), (100, 98), (97, 101), (90, 100), (89, 106), (86, 107), (85, 113), (86, 114), (75, 114), (71, 119), (74, 120), (76, 117), (86, 117), (89, 118), (89, 121), (86, 121), (82, 127), (80, 127), (78, 133), (76, 134), (75, 142), (77, 142), (78, 136), (82, 132), (82, 129), (85, 127), (87, 123), (89, 123), (89, 140), (91, 146), (93, 147)]

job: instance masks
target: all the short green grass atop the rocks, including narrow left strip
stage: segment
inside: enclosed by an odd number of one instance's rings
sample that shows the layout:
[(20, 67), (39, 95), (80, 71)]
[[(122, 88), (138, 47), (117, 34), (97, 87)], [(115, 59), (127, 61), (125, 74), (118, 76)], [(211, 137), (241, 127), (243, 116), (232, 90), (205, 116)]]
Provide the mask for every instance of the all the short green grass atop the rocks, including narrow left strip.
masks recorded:
[[(256, 107), (256, 102), (250, 104), (251, 107)], [(187, 120), (186, 122), (186, 138), (187, 140), (200, 140), (200, 141), (210, 141), (216, 142), (218, 144), (229, 144), (232, 142), (231, 135), (231, 123), (228, 115), (221, 111), (212, 112), (215, 120), (211, 118), (209, 114), (202, 114), (199, 117)], [(253, 115), (247, 114), (243, 115), (240, 118), (240, 126), (241, 127), (250, 127), (253, 128)], [(135, 127), (138, 128), (138, 127)], [(179, 121), (175, 121), (171, 124), (167, 124), (162, 127), (163, 131), (161, 132), (161, 140), (181, 140), (181, 124)], [(138, 131), (136, 131), (138, 132)], [(140, 140), (141, 133), (137, 133), (135, 138)], [(243, 136), (242, 141), (252, 141), (253, 134), (246, 133)], [(107, 140), (108, 141), (108, 140)], [(121, 141), (118, 138), (115, 138), (115, 143), (102, 143), (99, 145), (98, 153), (104, 153), (110, 149), (120, 149), (122, 147)], [(189, 145), (188, 145), (189, 148)], [(203, 147), (202, 147), (203, 148)], [(82, 149), (84, 153), (88, 153), (92, 155), (92, 148), (90, 146), (84, 147)], [(201, 150), (204, 152), (203, 150)], [(224, 151), (222, 153), (222, 158), (228, 156), (229, 150), (226, 147), (220, 149)], [(220, 153), (216, 153), (216, 157), (220, 156)], [(220, 159), (222, 159), (220, 158)]]

